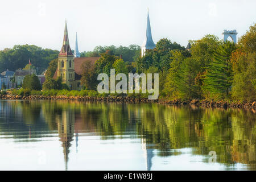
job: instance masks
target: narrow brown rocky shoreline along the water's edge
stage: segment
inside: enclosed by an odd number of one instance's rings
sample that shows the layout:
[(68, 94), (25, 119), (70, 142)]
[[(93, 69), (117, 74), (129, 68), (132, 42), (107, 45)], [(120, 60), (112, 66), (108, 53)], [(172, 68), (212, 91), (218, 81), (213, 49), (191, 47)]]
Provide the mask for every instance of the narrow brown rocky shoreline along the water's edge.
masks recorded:
[(70, 100), (70, 101), (108, 101), (108, 102), (133, 102), (133, 103), (150, 103), (156, 102), (159, 104), (168, 105), (195, 105), (204, 107), (234, 107), (239, 109), (256, 109), (256, 101), (246, 103), (246, 102), (233, 102), (228, 103), (227, 101), (207, 101), (207, 100), (191, 100), (191, 101), (181, 101), (181, 100), (148, 100), (147, 98), (129, 97), (129, 96), (108, 96), (108, 97), (81, 97), (81, 96), (15, 96), (12, 94), (6, 94), (0, 96), (0, 100)]

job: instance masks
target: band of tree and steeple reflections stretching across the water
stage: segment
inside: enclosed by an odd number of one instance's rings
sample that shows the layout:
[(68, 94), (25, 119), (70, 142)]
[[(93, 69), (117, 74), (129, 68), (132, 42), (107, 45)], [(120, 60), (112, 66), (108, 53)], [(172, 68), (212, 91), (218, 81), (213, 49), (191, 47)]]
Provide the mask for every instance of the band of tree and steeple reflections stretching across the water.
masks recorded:
[[(66, 163), (74, 133), (76, 139), (79, 133), (97, 133), (101, 139), (142, 138), (147, 169), (153, 150), (169, 156), (179, 155), (170, 149), (185, 147), (192, 148), (194, 155), (216, 151), (217, 162), (253, 164), (256, 169), (256, 115), (250, 111), (77, 101), (1, 102), (0, 111), (1, 132), (28, 132), (29, 121), (33, 130), (43, 130), (38, 122), (43, 119), (48, 125), (44, 130), (58, 130)], [(20, 126), (11, 123), (13, 115)]]

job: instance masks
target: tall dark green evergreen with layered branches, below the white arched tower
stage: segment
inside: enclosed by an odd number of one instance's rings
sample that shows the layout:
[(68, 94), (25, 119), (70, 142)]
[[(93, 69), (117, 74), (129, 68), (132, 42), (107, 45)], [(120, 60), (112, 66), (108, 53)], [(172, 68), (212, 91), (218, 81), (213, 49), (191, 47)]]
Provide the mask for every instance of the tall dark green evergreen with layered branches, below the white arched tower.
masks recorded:
[(229, 93), (233, 79), (230, 56), (235, 49), (234, 43), (223, 42), (214, 52), (212, 63), (206, 68), (207, 73), (203, 79), (203, 87), (213, 95), (225, 97)]

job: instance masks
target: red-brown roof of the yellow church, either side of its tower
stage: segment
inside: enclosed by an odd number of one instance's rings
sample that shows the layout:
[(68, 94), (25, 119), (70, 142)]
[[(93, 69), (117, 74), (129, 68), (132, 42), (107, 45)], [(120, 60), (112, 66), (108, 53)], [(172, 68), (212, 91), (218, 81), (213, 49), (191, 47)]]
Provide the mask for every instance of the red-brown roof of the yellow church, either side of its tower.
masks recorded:
[[(87, 61), (94, 64), (100, 57), (75, 57), (74, 64), (75, 64), (75, 80), (80, 80), (82, 75), (82, 64), (86, 63)], [(56, 69), (53, 78), (57, 78), (57, 71)]]

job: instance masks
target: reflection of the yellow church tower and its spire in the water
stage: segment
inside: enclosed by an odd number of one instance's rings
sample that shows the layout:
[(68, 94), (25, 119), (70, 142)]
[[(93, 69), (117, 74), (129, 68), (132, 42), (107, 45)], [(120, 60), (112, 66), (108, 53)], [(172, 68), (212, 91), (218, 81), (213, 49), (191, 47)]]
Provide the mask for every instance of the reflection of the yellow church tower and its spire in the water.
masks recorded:
[(68, 169), (68, 154), (69, 147), (71, 147), (71, 142), (74, 136), (74, 121), (73, 114), (67, 111), (63, 111), (62, 118), (58, 122), (58, 131), (61, 146), (63, 147), (63, 154), (65, 160), (65, 169)]

